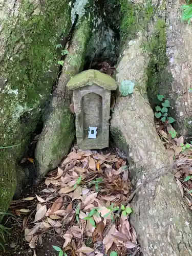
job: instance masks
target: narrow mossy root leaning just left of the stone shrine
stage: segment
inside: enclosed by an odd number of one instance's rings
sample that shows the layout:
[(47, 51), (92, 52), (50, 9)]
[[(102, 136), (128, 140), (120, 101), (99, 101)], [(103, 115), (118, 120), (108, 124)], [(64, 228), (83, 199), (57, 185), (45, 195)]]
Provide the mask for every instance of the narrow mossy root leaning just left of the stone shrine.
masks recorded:
[[(90, 6), (89, 9), (92, 13)], [(69, 53), (53, 92), (49, 113), (35, 151), (39, 178), (61, 162), (75, 139), (74, 115), (69, 108), (71, 99), (66, 84), (71, 77), (82, 71), (91, 28), (92, 20), (87, 19), (87, 16), (82, 17), (70, 42)]]

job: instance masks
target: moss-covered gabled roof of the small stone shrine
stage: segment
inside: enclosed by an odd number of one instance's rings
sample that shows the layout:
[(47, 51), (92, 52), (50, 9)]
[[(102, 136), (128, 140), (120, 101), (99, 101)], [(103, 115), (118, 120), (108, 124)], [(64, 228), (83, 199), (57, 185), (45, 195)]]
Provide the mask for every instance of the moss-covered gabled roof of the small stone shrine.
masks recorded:
[(67, 87), (69, 90), (74, 90), (84, 86), (97, 84), (104, 89), (114, 91), (117, 89), (117, 83), (111, 76), (101, 73), (98, 70), (89, 69), (72, 77)]

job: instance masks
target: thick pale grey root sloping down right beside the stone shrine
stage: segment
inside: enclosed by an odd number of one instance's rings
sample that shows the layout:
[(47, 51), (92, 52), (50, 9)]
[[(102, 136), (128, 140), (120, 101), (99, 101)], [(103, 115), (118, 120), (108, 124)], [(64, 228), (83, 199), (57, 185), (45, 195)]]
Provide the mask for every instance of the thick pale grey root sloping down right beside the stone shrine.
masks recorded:
[[(136, 16), (133, 18), (131, 15), (134, 13), (133, 8), (139, 9), (139, 4), (131, 5), (130, 8), (127, 1), (125, 2), (123, 7), (127, 9), (124, 9), (124, 22), (127, 22), (127, 17), (130, 18), (128, 22), (136, 22)], [(161, 4), (163, 3), (161, 1)], [(162, 10), (164, 7), (161, 6)], [(142, 12), (144, 11), (147, 19), (149, 9), (143, 9)], [(143, 20), (146, 22), (146, 19)], [(150, 20), (153, 19), (150, 18), (148, 22)], [(129, 28), (133, 29), (134, 23), (130, 26)], [(124, 44), (116, 79), (118, 84), (123, 80), (134, 81), (136, 86), (131, 96), (117, 98), (111, 121), (111, 133), (117, 146), (127, 153), (136, 187), (143, 183), (146, 177), (154, 177), (154, 172), (157, 172), (157, 178), (142, 186), (133, 199), (134, 213), (131, 222), (145, 256), (192, 255), (191, 211), (183, 202), (174, 176), (171, 172), (166, 172), (169, 163), (164, 146), (157, 135), (154, 113), (146, 95), (147, 82), (151, 79), (148, 75), (153, 73), (149, 72), (149, 68), (154, 63), (154, 56), (146, 49), (144, 51), (143, 45), (146, 43), (146, 37), (149, 38), (150, 35), (142, 28), (139, 31), (138, 27), (139, 32), (134, 36), (132, 34), (130, 38), (130, 31), (125, 34), (127, 31), (124, 28), (121, 27)], [(154, 27), (153, 29), (155, 31)], [(159, 29), (164, 29), (161, 22)]]

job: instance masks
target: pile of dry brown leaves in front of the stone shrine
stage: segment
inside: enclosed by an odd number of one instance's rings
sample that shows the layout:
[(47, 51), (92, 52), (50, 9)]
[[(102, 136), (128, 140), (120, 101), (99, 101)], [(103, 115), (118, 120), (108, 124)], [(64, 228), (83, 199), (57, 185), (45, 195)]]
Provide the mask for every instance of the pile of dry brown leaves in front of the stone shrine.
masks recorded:
[(112, 248), (126, 255), (137, 248), (129, 216), (120, 210), (115, 218), (132, 189), (126, 161), (117, 154), (74, 148), (45, 184), (38, 195), (23, 199), (35, 202), (33, 212), (31, 206), (16, 209), (25, 215), (23, 230), (31, 248), (53, 230), (65, 240), (63, 251), (71, 250), (72, 255), (103, 256)]

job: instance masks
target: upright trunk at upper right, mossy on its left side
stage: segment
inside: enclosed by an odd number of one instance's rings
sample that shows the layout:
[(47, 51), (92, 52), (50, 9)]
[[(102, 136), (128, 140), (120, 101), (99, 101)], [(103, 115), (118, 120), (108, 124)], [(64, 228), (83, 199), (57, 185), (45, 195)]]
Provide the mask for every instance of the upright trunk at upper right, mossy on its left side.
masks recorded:
[(152, 3), (154, 11), (147, 33), (147, 45), (152, 54), (148, 95), (153, 106), (158, 103), (154, 100), (157, 94), (170, 100), (170, 114), (176, 119), (177, 131), (192, 135), (192, 26), (181, 22), (180, 7), (184, 1)]

